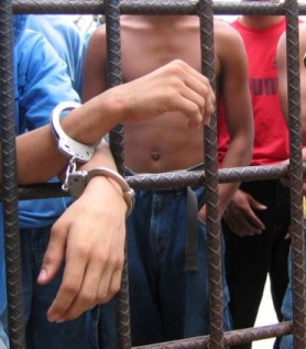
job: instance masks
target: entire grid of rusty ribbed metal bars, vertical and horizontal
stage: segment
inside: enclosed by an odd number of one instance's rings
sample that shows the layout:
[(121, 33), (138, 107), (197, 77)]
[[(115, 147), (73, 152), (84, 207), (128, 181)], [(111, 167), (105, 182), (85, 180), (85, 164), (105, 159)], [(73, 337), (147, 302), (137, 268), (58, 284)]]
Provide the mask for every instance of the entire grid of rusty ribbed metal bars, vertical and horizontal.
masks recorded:
[[(288, 45), (288, 65), (291, 68), (295, 69), (297, 63), (296, 56), (296, 44), (298, 43), (298, 37), (296, 40), (297, 34), (297, 15), (306, 14), (306, 2), (297, 2), (296, 0), (286, 0), (282, 3), (265, 3), (265, 2), (249, 2), (249, 3), (240, 3), (234, 1), (185, 1), (175, 3), (174, 1), (152, 1), (152, 0), (133, 0), (127, 1), (123, 0), (120, 3), (118, 0), (114, 1), (114, 19), (108, 20), (110, 25), (114, 25), (113, 33), (117, 33), (120, 30), (118, 26), (119, 14), (195, 14), (200, 15), (203, 21), (204, 30), (203, 30), (203, 40), (207, 40), (211, 50), (214, 50), (214, 39), (211, 39), (211, 17), (212, 14), (285, 14), (287, 18), (287, 31), (288, 37), (292, 37), (292, 42)], [(111, 9), (112, 12), (113, 9)], [(35, 0), (14, 0), (7, 1), (2, 0), (0, 6), (0, 32), (9, 33), (11, 35), (11, 26), (8, 24), (11, 21), (11, 14), (14, 13), (66, 13), (66, 14), (102, 14), (106, 13), (108, 17), (108, 10), (105, 6), (105, 2), (99, 0), (53, 0), (53, 1), (37, 1)], [(207, 25), (207, 26), (206, 26)], [(111, 28), (112, 30), (112, 28)], [(210, 36), (211, 35), (211, 36)], [(292, 35), (292, 36), (291, 36)], [(212, 40), (212, 41), (211, 41)], [(113, 44), (113, 43), (112, 43)], [(8, 271), (8, 280), (9, 280), (9, 297), (10, 294), (17, 294), (18, 296), (12, 296), (9, 298), (10, 306), (10, 337), (11, 337), (11, 348), (24, 348), (24, 334), (23, 334), (23, 325), (22, 325), (22, 306), (19, 299), (21, 299), (21, 282), (20, 282), (20, 261), (19, 261), (19, 235), (18, 231), (18, 214), (17, 214), (17, 199), (19, 194), (19, 198), (25, 198), (26, 196), (33, 195), (46, 195), (47, 197), (54, 196), (54, 194), (58, 196), (63, 196), (62, 190), (57, 186), (52, 185), (37, 185), (31, 187), (18, 187), (15, 185), (15, 157), (14, 157), (14, 126), (11, 123), (13, 120), (12, 117), (12, 74), (11, 74), (11, 56), (10, 48), (12, 46), (11, 41), (8, 37), (1, 37), (0, 44), (0, 106), (1, 106), (1, 118), (3, 118), (3, 122), (1, 119), (1, 132), (3, 133), (2, 139), (2, 168), (3, 176), (8, 175), (8, 178), (3, 177), (3, 188), (1, 190), (2, 201), (4, 207), (7, 208), (8, 215), (6, 216), (6, 222), (10, 223), (10, 228), (7, 230), (8, 239), (7, 241), (12, 242), (12, 244), (8, 243), (9, 250), (7, 249), (8, 257), (8, 265), (12, 265), (14, 268), (13, 272), (10, 273)], [(116, 42), (120, 50), (120, 43)], [(208, 51), (211, 53), (211, 51)], [(208, 54), (206, 52), (206, 54)], [(120, 53), (119, 53), (120, 55)], [(114, 62), (114, 67), (120, 66), (120, 56), (114, 58), (119, 59), (117, 63)], [(110, 64), (112, 58), (110, 58)], [(208, 59), (209, 62), (209, 59)], [(289, 63), (291, 62), (291, 63)], [(207, 63), (207, 62), (206, 62)], [(212, 67), (212, 59), (210, 57), (210, 66), (208, 70), (204, 70), (205, 75), (207, 75), (211, 83), (214, 84), (215, 72)], [(9, 78), (7, 77), (9, 74)], [(222, 332), (222, 319), (217, 312), (217, 308), (220, 307), (220, 298), (217, 299), (219, 295), (220, 287), (220, 269), (217, 265), (220, 263), (220, 252), (211, 253), (211, 282), (214, 287), (214, 292), (216, 292), (215, 298), (211, 299), (212, 307), (212, 330), (211, 336), (199, 337), (195, 339), (176, 341), (173, 343), (163, 343), (150, 347), (172, 347), (172, 348), (220, 348), (222, 345), (237, 345), (242, 342), (252, 341), (255, 339), (269, 338), (273, 336), (281, 336), (284, 334), (288, 334), (293, 331), (295, 338), (295, 348), (305, 348), (305, 275), (304, 275), (304, 241), (302, 233), (302, 177), (304, 170), (302, 168), (302, 160), (300, 160), (300, 126), (298, 124), (298, 112), (299, 112), (299, 95), (291, 92), (297, 90), (298, 94), (298, 73), (294, 70), (289, 73), (292, 77), (289, 90), (289, 100), (296, 101), (294, 102), (295, 107), (293, 107), (293, 101), (289, 101), (291, 109), (291, 134), (292, 134), (292, 144), (291, 144), (291, 163), (289, 171), (286, 165), (280, 166), (261, 166), (261, 167), (245, 167), (245, 168), (230, 168), (230, 170), (221, 170), (221, 171), (212, 171), (210, 173), (206, 172), (187, 172), (187, 173), (167, 173), (167, 174), (159, 174), (159, 175), (150, 175), (150, 176), (133, 176), (129, 177), (128, 182), (134, 188), (161, 188), (161, 187), (171, 187), (171, 186), (186, 186), (193, 184), (206, 184), (210, 192), (211, 196), (208, 198), (208, 206), (210, 206), (209, 211), (209, 231), (212, 232), (212, 243), (215, 246), (217, 241), (219, 241), (219, 222), (218, 218), (216, 219), (216, 215), (218, 212), (218, 182), (241, 182), (241, 181), (252, 181), (253, 178), (281, 178), (282, 176), (289, 173), (291, 183), (292, 183), (292, 204), (293, 204), (293, 214), (292, 214), (292, 228), (293, 228), (293, 268), (294, 268), (294, 320), (292, 323), (284, 323), (278, 325), (273, 325), (269, 327), (253, 328), (247, 330), (239, 330), (233, 332)], [(121, 77), (117, 76), (114, 81), (110, 84), (114, 84), (113, 86), (120, 84)], [(297, 89), (296, 89), (297, 88)], [(9, 89), (9, 90), (8, 90)], [(297, 97), (298, 96), (298, 97)], [(6, 120), (6, 113), (8, 113), (8, 120)], [(208, 129), (207, 139), (209, 142), (206, 142), (206, 153), (209, 159), (206, 157), (207, 167), (208, 163), (211, 165), (215, 164), (215, 126)], [(8, 132), (9, 130), (9, 132)], [(8, 133), (7, 133), (8, 132)], [(207, 132), (207, 131), (206, 131)], [(8, 137), (8, 139), (7, 139)], [(123, 144), (119, 141), (119, 153), (123, 149)], [(117, 156), (114, 154), (114, 156)], [(120, 166), (123, 164), (123, 156), (119, 154), (117, 156), (119, 159)], [(8, 166), (3, 163), (8, 159)], [(8, 172), (6, 174), (6, 171)], [(219, 176), (219, 177), (218, 177)], [(7, 181), (8, 179), (8, 181)], [(211, 181), (211, 182), (210, 182)], [(6, 186), (6, 182), (8, 186)], [(37, 193), (40, 189), (42, 193)], [(8, 196), (7, 196), (8, 195)], [(32, 197), (33, 197), (32, 196)], [(37, 197), (37, 196), (35, 196)], [(40, 196), (43, 197), (43, 196)], [(6, 226), (7, 226), (6, 223)], [(219, 243), (219, 242), (218, 242)], [(220, 248), (220, 244), (218, 244)], [(10, 255), (11, 253), (11, 255)], [(9, 268), (8, 268), (9, 269)], [(214, 274), (216, 272), (216, 274)], [(124, 287), (123, 287), (124, 288)], [(125, 299), (127, 299), (125, 293)], [(216, 301), (216, 302), (215, 302)], [(215, 308), (216, 306), (216, 308)], [(218, 309), (219, 310), (219, 309)], [(13, 314), (13, 316), (12, 316)], [(216, 316), (215, 316), (216, 315)], [(17, 320), (17, 321), (15, 321)], [(128, 320), (129, 323), (129, 320)], [(125, 326), (125, 325), (124, 325)], [(123, 326), (123, 328), (124, 328)], [(129, 324), (128, 327), (129, 328)], [(129, 339), (129, 330), (127, 332), (127, 328), (123, 330), (122, 341), (120, 341), (120, 347), (130, 347)], [(125, 331), (125, 334), (124, 334)], [(125, 337), (128, 336), (128, 337)], [(127, 340), (128, 339), (128, 340)], [(219, 342), (216, 341), (219, 340)]]

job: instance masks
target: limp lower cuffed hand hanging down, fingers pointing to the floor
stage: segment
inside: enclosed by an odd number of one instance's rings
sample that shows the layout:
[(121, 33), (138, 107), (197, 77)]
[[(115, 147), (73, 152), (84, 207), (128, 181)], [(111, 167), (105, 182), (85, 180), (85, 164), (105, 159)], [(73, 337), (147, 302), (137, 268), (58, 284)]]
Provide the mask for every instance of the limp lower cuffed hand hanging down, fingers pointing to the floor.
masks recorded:
[(65, 271), (47, 317), (64, 321), (108, 302), (120, 288), (127, 205), (106, 177), (95, 177), (55, 222), (37, 282), (48, 283), (65, 259)]

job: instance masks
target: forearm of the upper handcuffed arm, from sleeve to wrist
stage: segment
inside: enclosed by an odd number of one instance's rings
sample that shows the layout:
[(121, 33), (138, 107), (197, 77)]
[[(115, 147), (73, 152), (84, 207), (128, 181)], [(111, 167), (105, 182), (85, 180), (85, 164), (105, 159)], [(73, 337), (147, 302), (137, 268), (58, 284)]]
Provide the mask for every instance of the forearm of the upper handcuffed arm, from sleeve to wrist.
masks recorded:
[[(120, 117), (119, 108), (108, 106), (108, 101), (99, 96), (69, 112), (61, 121), (62, 127), (70, 138), (95, 143), (116, 126), (116, 116)], [(101, 157), (99, 162), (101, 166)], [(17, 163), (20, 184), (41, 183), (58, 175), (67, 165), (68, 157), (58, 150), (50, 126), (45, 126), (17, 138)], [(112, 162), (111, 166), (113, 168)]]

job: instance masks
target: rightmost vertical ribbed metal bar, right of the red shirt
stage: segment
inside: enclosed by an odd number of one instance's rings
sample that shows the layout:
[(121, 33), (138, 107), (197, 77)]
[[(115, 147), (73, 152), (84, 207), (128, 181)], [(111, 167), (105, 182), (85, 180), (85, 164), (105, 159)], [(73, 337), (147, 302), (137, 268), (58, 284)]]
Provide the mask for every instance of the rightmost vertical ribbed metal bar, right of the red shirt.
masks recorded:
[(293, 335), (294, 348), (305, 348), (305, 274), (304, 274), (304, 235), (302, 216), (303, 168), (300, 138), (300, 90), (299, 90), (299, 44), (298, 44), (298, 4), (296, 0), (286, 0), (287, 35), (287, 90), (291, 132), (291, 231), (293, 250)]

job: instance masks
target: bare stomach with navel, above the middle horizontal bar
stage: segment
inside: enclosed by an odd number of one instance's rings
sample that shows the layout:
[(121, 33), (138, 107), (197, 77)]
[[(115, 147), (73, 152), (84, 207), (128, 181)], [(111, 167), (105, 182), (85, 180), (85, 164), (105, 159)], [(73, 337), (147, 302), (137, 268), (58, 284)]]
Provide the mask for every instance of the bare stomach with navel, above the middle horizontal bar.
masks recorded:
[(204, 162), (203, 129), (190, 130), (185, 118), (157, 119), (124, 124), (127, 166), (136, 173), (161, 173)]

